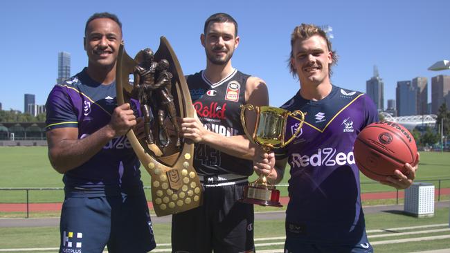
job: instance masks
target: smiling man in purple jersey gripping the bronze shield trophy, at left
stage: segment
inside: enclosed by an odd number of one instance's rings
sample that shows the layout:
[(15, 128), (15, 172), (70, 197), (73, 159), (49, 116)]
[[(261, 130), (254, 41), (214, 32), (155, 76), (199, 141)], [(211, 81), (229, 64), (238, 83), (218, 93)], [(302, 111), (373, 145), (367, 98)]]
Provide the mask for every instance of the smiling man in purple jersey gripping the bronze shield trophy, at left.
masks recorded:
[(122, 25), (96, 13), (84, 35), (87, 68), (56, 84), (46, 102), (48, 158), (64, 174), (60, 252), (149, 252), (156, 244), (140, 163), (125, 136), (132, 127), (143, 133), (143, 120), (116, 101)]

